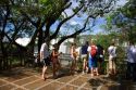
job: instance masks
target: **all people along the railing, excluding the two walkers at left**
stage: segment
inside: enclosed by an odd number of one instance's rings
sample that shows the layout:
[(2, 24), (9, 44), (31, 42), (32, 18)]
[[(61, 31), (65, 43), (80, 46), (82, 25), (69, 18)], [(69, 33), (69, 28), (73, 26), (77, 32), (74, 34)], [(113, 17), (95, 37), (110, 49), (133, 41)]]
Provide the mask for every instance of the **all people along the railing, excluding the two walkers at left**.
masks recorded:
[[(76, 44), (73, 43), (71, 48), (71, 55), (73, 59), (73, 65), (76, 67), (76, 61), (78, 54), (76, 50)], [(83, 61), (83, 74), (90, 72), (91, 76), (98, 76), (102, 73), (102, 64), (104, 62), (104, 53), (108, 52), (108, 76), (115, 76), (118, 73), (116, 69), (116, 49), (114, 41), (110, 43), (107, 50), (103, 49), (101, 44), (96, 44), (95, 41), (86, 41), (85, 44), (82, 46), (81, 49), (81, 57)], [(136, 81), (136, 46), (133, 41), (129, 41), (128, 46), (124, 48), (126, 53), (126, 79), (132, 79)], [(75, 56), (74, 56), (75, 54)], [(119, 54), (120, 56), (120, 54)], [(124, 57), (125, 59), (125, 57)], [(75, 68), (74, 68), (75, 69)]]

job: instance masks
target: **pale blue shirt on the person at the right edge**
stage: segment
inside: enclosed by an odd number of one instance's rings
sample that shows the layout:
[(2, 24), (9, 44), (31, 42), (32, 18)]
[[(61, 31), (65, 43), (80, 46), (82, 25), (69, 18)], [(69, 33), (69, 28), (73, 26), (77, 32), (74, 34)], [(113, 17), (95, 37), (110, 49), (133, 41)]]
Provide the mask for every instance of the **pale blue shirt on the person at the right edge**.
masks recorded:
[(136, 47), (135, 46), (128, 46), (127, 50), (127, 62), (129, 63), (136, 63)]

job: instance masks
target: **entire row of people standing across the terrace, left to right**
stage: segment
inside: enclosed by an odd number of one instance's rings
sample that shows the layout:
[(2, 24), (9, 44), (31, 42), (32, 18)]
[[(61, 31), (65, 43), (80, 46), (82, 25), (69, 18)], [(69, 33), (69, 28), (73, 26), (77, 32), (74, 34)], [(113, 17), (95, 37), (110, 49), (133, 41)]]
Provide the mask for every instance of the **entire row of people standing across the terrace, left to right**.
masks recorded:
[[(114, 42), (112, 42), (109, 48), (107, 49), (109, 54), (109, 64), (108, 68), (109, 75), (115, 75), (116, 74), (116, 47)], [(86, 41), (85, 44), (82, 46), (81, 52), (76, 51), (76, 43), (72, 43), (70, 49), (71, 60), (72, 64), (70, 67), (70, 74), (73, 75), (76, 72), (77, 67), (77, 57), (79, 56), (83, 61), (83, 74), (90, 72), (91, 77), (98, 76), (102, 70), (102, 64), (104, 61), (104, 52), (106, 50), (100, 44), (96, 44), (94, 40), (90, 42)], [(53, 77), (57, 78), (57, 72), (61, 68), (61, 64), (59, 62), (58, 56), (61, 53), (59, 53), (58, 46), (53, 46), (53, 50), (51, 55), (49, 54), (49, 48), (47, 43), (41, 44), (40, 49), (40, 60), (42, 61), (44, 67), (42, 67), (42, 79), (46, 79), (46, 70), (47, 66), (50, 65), (50, 61), (52, 62), (52, 70), (53, 70)], [(133, 54), (133, 56), (132, 56)], [(129, 46), (127, 48), (127, 77), (133, 77), (136, 75), (134, 70), (136, 72), (136, 48)], [(131, 74), (132, 73), (132, 74)]]

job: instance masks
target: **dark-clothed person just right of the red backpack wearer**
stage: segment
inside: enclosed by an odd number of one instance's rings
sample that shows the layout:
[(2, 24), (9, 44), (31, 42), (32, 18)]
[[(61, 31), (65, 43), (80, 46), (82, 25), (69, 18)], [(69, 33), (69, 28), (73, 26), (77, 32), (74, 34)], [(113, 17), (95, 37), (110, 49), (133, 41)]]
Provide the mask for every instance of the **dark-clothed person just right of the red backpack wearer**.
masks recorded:
[(98, 72), (102, 73), (102, 64), (104, 61), (104, 49), (101, 44), (97, 44), (97, 61), (98, 61)]

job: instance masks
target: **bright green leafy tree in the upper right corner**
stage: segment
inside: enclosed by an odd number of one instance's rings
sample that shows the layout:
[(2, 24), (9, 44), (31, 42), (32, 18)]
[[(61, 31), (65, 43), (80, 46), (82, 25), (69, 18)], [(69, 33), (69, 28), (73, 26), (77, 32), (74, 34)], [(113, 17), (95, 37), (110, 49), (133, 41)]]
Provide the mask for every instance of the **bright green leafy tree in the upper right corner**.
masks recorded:
[[(120, 40), (136, 41), (136, 4), (135, 0), (129, 0), (124, 7), (119, 8), (116, 11), (108, 16), (108, 29), (114, 30), (120, 34)], [(116, 26), (115, 29), (112, 29)], [(110, 30), (110, 31), (111, 31)]]

